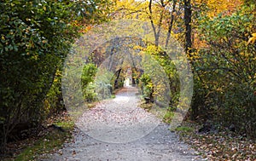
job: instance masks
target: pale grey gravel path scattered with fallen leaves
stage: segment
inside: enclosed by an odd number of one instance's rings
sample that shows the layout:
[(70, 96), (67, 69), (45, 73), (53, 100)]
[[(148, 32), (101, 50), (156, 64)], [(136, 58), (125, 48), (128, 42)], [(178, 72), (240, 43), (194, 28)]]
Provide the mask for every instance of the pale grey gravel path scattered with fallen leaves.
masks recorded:
[(116, 98), (84, 112), (73, 142), (44, 160), (201, 160), (193, 149), (178, 141), (168, 124), (137, 107), (136, 94), (136, 88), (126, 87)]

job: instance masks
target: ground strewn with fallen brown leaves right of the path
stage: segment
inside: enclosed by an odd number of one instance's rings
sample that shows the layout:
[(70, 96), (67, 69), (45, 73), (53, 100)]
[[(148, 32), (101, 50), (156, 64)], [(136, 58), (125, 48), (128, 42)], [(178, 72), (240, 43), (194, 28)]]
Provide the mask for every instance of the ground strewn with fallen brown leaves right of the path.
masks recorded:
[(176, 129), (181, 141), (188, 143), (207, 160), (256, 161), (256, 140), (230, 129), (198, 132), (201, 124), (183, 122)]

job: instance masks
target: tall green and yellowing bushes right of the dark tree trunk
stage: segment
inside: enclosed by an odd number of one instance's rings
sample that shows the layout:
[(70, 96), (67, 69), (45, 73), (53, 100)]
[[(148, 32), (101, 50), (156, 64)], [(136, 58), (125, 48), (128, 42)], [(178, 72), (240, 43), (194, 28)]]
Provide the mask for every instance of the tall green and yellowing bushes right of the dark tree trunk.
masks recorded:
[(241, 133), (255, 136), (255, 44), (247, 44), (255, 28), (255, 5), (231, 15), (201, 19), (201, 49), (193, 60), (197, 115), (224, 125), (235, 124)]

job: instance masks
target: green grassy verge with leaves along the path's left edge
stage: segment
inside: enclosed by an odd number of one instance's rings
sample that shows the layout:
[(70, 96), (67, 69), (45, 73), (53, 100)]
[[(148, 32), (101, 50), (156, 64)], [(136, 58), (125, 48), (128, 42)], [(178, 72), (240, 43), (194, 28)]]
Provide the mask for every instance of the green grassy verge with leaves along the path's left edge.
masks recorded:
[(57, 128), (48, 127), (41, 131), (41, 135), (38, 137), (28, 138), (26, 141), (12, 144), (12, 147), (20, 150), (15, 152), (12, 157), (3, 158), (3, 160), (38, 160), (44, 158), (48, 153), (60, 149), (64, 142), (72, 139), (74, 123), (67, 115), (52, 118), (48, 124), (55, 124)]

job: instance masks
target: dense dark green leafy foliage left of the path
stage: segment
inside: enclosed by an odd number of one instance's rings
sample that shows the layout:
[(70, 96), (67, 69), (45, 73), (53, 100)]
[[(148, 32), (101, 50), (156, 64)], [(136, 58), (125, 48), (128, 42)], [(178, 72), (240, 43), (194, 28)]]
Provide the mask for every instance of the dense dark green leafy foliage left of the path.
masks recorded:
[(61, 71), (74, 38), (79, 36), (76, 22), (90, 19), (96, 10), (96, 2), (91, 3), (95, 5), (80, 1), (1, 1), (1, 147), (15, 124), (42, 121), (49, 111), (43, 101), (50, 104), (60, 94), (61, 79), (55, 72)]

